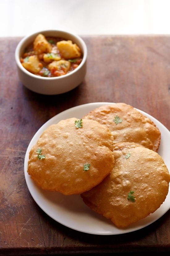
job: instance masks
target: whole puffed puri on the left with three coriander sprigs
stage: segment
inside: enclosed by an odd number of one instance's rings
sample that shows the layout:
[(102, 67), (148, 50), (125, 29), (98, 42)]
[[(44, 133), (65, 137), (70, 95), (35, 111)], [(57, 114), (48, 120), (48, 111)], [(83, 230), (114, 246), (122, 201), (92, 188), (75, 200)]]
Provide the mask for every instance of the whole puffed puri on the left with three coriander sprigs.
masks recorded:
[(79, 120), (70, 118), (49, 126), (29, 152), (28, 174), (42, 189), (81, 194), (113, 169), (109, 129), (88, 119), (76, 127), (75, 121)]

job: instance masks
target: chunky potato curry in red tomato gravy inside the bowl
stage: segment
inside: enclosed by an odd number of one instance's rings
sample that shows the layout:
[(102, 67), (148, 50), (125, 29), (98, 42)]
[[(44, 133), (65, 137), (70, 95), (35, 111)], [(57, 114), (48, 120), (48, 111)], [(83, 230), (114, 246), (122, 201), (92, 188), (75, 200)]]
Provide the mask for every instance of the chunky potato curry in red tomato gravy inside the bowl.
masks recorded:
[(43, 77), (65, 75), (77, 68), (83, 55), (71, 40), (38, 34), (20, 58), (23, 67)]

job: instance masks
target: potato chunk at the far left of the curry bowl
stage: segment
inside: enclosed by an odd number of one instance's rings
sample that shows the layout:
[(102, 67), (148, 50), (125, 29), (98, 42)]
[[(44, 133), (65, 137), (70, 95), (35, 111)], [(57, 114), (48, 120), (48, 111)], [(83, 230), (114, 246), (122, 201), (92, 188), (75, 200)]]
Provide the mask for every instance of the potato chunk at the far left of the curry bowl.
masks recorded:
[(29, 56), (28, 60), (23, 62), (22, 65), (31, 73), (38, 73), (41, 70), (41, 63), (36, 55)]

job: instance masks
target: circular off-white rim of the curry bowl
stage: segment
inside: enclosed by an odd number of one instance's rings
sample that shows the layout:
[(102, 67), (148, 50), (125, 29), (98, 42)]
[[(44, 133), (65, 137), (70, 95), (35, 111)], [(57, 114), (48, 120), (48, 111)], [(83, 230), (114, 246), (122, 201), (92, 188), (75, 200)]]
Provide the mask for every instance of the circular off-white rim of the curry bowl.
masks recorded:
[[(68, 37), (69, 36), (71, 36), (71, 37), (73, 36), (73, 37), (75, 37), (76, 39), (79, 40), (79, 42), (81, 43), (82, 48), (83, 48), (83, 59), (82, 59), (82, 62), (80, 63), (80, 65), (76, 69), (72, 70), (70, 73), (67, 73), (67, 74), (65, 74), (63, 76), (42, 77), (42, 76), (37, 76), (35, 74), (32, 74), (31, 72), (29, 72), (28, 70), (26, 70), (23, 67), (23, 65), (21, 64), (21, 62), (19, 60), (19, 58), (20, 58), (19, 51), (20, 51), (20, 48), (22, 47), (23, 43), (27, 42), (27, 40), (29, 40), (29, 38), (31, 38), (33, 36), (36, 37), (36, 35), (38, 35), (38, 34), (43, 34), (43, 33), (47, 33), (47, 32), (48, 33), (50, 33), (50, 32), (51, 33), (53, 33), (53, 32), (55, 32), (55, 33), (64, 33), (64, 34), (68, 35)], [(69, 40), (69, 38), (68, 38), (68, 40)], [(35, 32), (33, 34), (26, 35), (26, 36), (24, 36), (20, 40), (20, 42), (18, 43), (18, 45), (17, 45), (17, 47), (15, 49), (15, 61), (16, 61), (17, 66), (19, 67), (19, 69), (22, 70), (25, 74), (31, 76), (32, 78), (36, 78), (36, 79), (40, 79), (40, 80), (41, 79), (42, 80), (48, 80), (48, 81), (49, 80), (60, 80), (60, 79), (63, 79), (65, 77), (69, 77), (72, 74), (76, 73), (79, 69), (81, 69), (81, 67), (85, 64), (86, 60), (87, 60), (87, 46), (86, 46), (85, 42), (83, 41), (83, 39), (79, 35), (71, 33), (71, 32), (68, 32), (66, 30), (46, 29), (46, 30), (37, 31), (37, 32)]]

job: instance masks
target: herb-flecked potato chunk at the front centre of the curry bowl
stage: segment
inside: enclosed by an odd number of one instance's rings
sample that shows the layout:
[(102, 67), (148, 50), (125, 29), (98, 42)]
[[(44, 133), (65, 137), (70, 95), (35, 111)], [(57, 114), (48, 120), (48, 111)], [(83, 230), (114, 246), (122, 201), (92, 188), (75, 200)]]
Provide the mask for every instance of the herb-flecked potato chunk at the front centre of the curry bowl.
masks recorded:
[(70, 62), (65, 60), (53, 61), (48, 65), (48, 68), (51, 71), (51, 74), (56, 76), (64, 75), (70, 69)]

